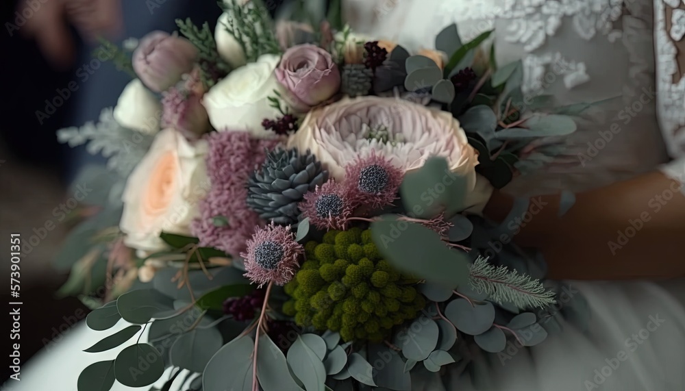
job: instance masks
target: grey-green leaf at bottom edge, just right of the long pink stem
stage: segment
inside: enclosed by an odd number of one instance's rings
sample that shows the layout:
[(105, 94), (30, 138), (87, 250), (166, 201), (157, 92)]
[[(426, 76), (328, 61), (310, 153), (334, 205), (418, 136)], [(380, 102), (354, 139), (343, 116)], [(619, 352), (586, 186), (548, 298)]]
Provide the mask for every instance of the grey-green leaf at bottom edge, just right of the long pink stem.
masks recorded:
[(292, 379), (286, 356), (281, 349), (266, 334), (259, 338), (257, 378), (264, 391), (302, 391), (295, 379)]

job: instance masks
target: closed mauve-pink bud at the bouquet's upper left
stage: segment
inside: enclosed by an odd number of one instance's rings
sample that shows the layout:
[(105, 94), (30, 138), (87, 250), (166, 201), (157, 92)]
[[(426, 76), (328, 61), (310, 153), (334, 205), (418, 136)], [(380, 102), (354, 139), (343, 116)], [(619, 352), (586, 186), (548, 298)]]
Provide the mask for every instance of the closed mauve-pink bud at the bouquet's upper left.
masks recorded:
[(146, 86), (162, 92), (192, 70), (198, 54), (197, 47), (186, 38), (153, 31), (134, 51), (133, 68)]

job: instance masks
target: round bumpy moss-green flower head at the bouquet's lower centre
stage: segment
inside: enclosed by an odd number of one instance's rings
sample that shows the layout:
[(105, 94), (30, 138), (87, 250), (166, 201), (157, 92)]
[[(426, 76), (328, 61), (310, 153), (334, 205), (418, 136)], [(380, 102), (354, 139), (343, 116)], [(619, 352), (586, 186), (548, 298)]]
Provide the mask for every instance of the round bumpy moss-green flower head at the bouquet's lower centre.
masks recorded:
[(338, 331), (345, 342), (381, 342), (425, 306), (418, 280), (382, 259), (368, 229), (328, 231), (305, 252), (307, 261), (284, 287), (292, 299), (283, 312), (301, 327)]

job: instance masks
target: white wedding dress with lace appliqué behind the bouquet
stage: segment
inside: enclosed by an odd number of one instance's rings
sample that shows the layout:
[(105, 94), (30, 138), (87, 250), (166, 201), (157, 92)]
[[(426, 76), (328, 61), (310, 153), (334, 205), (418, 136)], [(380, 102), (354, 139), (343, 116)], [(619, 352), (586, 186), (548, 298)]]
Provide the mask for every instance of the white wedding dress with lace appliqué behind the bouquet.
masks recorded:
[[(559, 160), (570, 158), (571, 164), (519, 177), (508, 188), (523, 194), (579, 191), (656, 167), (674, 179), (683, 177), (685, 78), (675, 81), (679, 71), (674, 42), (685, 35), (685, 10), (672, 10), (680, 3), (347, 0), (346, 8), (355, 31), (396, 40), (414, 52), (432, 47), (436, 34), (451, 23), (458, 24), (464, 42), (495, 29), (497, 61), (523, 60), (525, 94), (531, 96), (554, 94), (558, 104), (619, 97), (611, 100), (614, 106), (595, 110), (594, 121), (564, 141), (568, 148)], [(667, 151), (681, 160), (662, 165)], [(550, 334), (543, 344), (477, 359), (479, 373), (485, 374), (479, 381), (486, 381), (479, 389), (685, 390), (685, 281), (568, 282), (570, 295), (582, 294), (588, 301), (588, 330), (563, 324), (563, 331)], [(107, 334), (124, 327), (120, 321)], [(10, 383), (8, 389), (75, 391), (83, 368), (112, 360), (125, 347), (97, 355), (82, 352), (102, 337), (102, 332), (77, 326), (29, 362), (21, 382)], [(192, 378), (182, 385), (183, 378), (177, 378), (172, 390), (188, 389)], [(468, 374), (436, 375), (432, 383), (416, 384), (414, 390), (471, 391), (478, 389), (475, 380)], [(112, 390), (133, 389), (115, 383)]]

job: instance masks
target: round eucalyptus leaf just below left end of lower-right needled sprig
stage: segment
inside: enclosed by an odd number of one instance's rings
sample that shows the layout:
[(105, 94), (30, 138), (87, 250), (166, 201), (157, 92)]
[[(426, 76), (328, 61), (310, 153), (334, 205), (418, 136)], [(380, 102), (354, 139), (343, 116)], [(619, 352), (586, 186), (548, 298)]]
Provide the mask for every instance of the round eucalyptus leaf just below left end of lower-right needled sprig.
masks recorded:
[(477, 336), (492, 327), (495, 322), (495, 307), (488, 301), (472, 306), (465, 299), (456, 299), (445, 307), (445, 316), (462, 333)]

